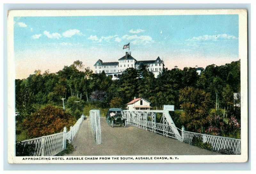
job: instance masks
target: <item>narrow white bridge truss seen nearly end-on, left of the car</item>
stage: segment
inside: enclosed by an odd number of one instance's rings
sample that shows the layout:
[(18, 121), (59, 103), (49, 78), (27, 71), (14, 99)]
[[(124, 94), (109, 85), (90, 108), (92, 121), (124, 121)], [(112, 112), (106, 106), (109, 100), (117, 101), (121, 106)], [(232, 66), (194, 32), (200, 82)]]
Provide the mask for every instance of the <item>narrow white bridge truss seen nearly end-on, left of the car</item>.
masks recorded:
[(90, 110), (90, 123), (96, 143), (101, 144), (100, 110)]

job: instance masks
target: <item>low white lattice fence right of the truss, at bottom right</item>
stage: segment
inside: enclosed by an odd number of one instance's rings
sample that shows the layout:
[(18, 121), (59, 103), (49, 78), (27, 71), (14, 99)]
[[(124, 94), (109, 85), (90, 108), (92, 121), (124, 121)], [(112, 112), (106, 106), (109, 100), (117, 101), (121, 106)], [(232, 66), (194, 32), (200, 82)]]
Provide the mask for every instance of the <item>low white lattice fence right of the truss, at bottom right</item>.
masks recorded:
[(216, 151), (230, 149), (234, 154), (241, 154), (241, 139), (219, 137), (207, 134), (200, 134), (188, 131), (182, 131), (183, 142), (191, 144), (193, 138), (200, 138), (203, 143), (209, 143), (212, 145), (212, 149)]

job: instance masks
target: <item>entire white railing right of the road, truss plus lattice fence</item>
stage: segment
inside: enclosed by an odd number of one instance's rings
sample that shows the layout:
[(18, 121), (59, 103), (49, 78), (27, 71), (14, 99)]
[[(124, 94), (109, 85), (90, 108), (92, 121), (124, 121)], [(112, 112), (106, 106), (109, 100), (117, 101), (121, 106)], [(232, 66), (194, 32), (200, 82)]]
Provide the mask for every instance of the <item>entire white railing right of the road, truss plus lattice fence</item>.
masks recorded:
[[(156, 114), (161, 114), (160, 123), (156, 123)], [(200, 138), (203, 143), (212, 145), (212, 149), (232, 150), (234, 154), (241, 154), (241, 140), (219, 137), (207, 134), (188, 132), (176, 128), (168, 111), (162, 110), (124, 110), (123, 116), (126, 123), (135, 127), (152, 131), (167, 137), (176, 138), (185, 143), (192, 143), (194, 137)]]

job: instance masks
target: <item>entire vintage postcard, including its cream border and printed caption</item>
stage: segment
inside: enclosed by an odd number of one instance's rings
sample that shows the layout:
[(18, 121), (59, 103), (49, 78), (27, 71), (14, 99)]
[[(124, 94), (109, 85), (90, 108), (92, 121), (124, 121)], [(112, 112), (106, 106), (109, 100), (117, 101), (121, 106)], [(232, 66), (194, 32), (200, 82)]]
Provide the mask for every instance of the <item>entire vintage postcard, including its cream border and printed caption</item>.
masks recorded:
[(8, 12), (9, 163), (246, 162), (247, 11)]

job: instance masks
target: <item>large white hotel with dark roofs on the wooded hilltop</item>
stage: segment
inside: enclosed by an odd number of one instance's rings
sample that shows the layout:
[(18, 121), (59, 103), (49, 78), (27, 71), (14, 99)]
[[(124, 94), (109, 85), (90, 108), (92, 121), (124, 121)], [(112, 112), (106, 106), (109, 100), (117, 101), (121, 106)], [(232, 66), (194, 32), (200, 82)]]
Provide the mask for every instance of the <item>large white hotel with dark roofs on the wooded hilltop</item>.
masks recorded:
[(133, 67), (138, 69), (141, 64), (148, 65), (148, 71), (152, 72), (155, 77), (157, 77), (164, 68), (164, 61), (159, 57), (155, 60), (137, 61), (131, 56), (131, 52), (126, 52), (124, 57), (118, 59), (118, 62), (102, 62), (102, 60), (99, 59), (94, 64), (94, 73), (99, 74), (104, 71), (107, 76), (112, 77), (112, 80), (116, 80), (127, 68)]

